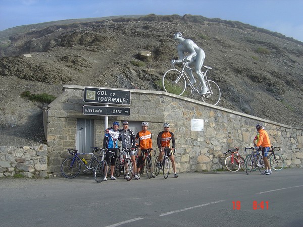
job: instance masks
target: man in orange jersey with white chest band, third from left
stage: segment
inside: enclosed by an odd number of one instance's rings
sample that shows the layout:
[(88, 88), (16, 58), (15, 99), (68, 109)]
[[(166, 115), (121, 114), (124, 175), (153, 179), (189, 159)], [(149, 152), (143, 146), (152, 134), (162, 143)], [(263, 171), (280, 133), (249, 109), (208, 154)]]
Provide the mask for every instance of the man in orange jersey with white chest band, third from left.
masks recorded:
[[(142, 122), (142, 131), (138, 132), (136, 135), (136, 140), (139, 140), (139, 158), (138, 158), (138, 163), (137, 166), (140, 166), (140, 164), (143, 163), (143, 152), (141, 151), (146, 151), (146, 150), (153, 150), (153, 142), (151, 141), (151, 132), (147, 130), (148, 128), (148, 122)], [(151, 160), (151, 155), (149, 153), (148, 157)], [(137, 176), (140, 179), (140, 174), (139, 174), (140, 168), (137, 167)], [(153, 178), (156, 177), (156, 175), (153, 172), (153, 175), (151, 176)]]

